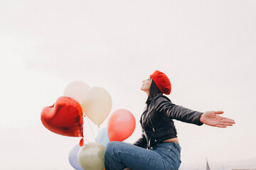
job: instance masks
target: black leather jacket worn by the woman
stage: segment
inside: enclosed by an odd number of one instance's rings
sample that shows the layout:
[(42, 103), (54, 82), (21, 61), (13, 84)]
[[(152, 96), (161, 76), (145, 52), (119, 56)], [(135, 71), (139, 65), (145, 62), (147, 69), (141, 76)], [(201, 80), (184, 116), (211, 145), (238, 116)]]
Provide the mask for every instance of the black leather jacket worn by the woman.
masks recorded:
[(171, 103), (169, 98), (159, 94), (151, 100), (142, 113), (140, 119), (142, 137), (134, 145), (151, 149), (151, 146), (156, 143), (177, 137), (172, 119), (195, 125), (203, 125), (199, 121), (201, 114), (203, 113), (183, 108), (183, 106), (177, 106)]

